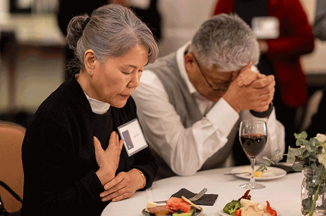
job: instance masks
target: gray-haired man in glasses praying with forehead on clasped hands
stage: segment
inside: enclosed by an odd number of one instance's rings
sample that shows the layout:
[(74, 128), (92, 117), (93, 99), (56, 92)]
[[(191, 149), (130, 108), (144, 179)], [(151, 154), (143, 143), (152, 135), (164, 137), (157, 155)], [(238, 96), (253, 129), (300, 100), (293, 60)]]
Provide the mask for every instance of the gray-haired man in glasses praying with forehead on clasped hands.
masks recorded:
[(144, 69), (132, 97), (158, 158), (158, 179), (236, 165), (232, 150), (242, 151), (234, 143), (244, 119), (267, 122), (258, 162), (284, 152), (284, 127), (271, 103), (274, 76), (253, 71), (259, 54), (250, 27), (237, 15), (220, 14), (204, 22), (191, 42)]

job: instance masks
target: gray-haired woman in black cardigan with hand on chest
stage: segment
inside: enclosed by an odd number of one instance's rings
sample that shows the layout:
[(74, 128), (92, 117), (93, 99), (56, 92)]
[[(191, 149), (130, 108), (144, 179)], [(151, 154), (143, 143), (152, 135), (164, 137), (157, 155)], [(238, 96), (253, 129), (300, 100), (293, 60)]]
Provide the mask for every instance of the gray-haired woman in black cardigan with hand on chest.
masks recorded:
[(67, 43), (76, 55), (72, 76), (40, 105), (24, 138), (23, 215), (100, 215), (156, 175), (147, 144), (130, 151), (118, 135), (138, 121), (130, 95), (158, 56), (150, 29), (110, 4), (74, 17)]

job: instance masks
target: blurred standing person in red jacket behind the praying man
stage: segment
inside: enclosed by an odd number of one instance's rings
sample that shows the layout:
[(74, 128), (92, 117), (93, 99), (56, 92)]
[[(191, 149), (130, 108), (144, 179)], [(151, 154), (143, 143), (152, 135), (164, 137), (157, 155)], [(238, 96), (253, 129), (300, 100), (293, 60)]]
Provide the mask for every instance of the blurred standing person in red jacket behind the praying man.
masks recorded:
[(295, 147), (296, 110), (304, 107), (308, 99), (299, 58), (314, 49), (312, 28), (300, 0), (219, 0), (213, 14), (220, 13), (237, 13), (250, 26), (254, 16), (278, 19), (279, 37), (259, 40), (261, 57), (258, 69), (275, 75), (273, 103), (276, 117), (285, 127), (286, 147)]

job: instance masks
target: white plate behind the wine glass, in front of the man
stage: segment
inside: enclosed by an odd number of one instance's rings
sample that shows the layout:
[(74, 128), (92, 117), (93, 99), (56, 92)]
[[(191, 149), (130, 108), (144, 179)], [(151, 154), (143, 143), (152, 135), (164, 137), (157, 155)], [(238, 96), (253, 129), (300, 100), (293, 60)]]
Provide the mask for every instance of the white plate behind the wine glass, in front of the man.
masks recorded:
[[(255, 170), (257, 170), (259, 166), (255, 166)], [(237, 173), (237, 172), (251, 172), (250, 166), (242, 166), (242, 167), (237, 167), (231, 170), (231, 173)], [(267, 180), (272, 180), (275, 178), (281, 178), (284, 175), (286, 175), (286, 171), (277, 168), (277, 167), (267, 167), (267, 170), (264, 170), (262, 172), (261, 177), (255, 177), (256, 181), (267, 181)], [(239, 178), (244, 178), (250, 180), (250, 173), (243, 173), (243, 174), (238, 174), (236, 175)]]

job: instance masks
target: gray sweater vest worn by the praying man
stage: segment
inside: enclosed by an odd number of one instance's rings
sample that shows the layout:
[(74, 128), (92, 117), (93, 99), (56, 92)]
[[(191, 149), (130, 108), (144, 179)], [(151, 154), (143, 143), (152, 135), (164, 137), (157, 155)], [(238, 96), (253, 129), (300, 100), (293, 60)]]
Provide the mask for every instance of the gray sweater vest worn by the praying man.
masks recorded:
[[(169, 101), (174, 106), (176, 113), (180, 116), (180, 120), (185, 128), (192, 127), (196, 121), (203, 118), (203, 115), (198, 108), (197, 101), (195, 100), (195, 96), (189, 93), (186, 82), (180, 75), (175, 52), (157, 59), (153, 64), (147, 66), (146, 69), (153, 71), (164, 85), (169, 96)], [(231, 153), (234, 139), (237, 137), (237, 130), (237, 127), (233, 127), (228, 136), (228, 142), (226, 145), (208, 158), (201, 170), (220, 168), (224, 166), (227, 157)], [(164, 172), (158, 173), (157, 179), (175, 175), (157, 154), (156, 157), (158, 158), (159, 165), (158, 172)], [(172, 172), (173, 174), (169, 172)]]

